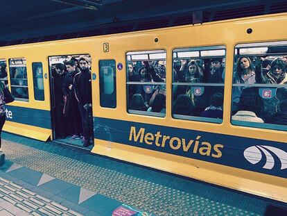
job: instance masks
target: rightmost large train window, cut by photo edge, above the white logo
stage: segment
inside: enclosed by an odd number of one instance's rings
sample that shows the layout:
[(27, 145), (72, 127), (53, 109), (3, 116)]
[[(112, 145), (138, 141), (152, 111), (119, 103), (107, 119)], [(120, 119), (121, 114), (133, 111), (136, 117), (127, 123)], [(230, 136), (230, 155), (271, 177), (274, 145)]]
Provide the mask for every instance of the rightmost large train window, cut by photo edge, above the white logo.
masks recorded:
[(287, 131), (287, 41), (238, 44), (232, 124)]

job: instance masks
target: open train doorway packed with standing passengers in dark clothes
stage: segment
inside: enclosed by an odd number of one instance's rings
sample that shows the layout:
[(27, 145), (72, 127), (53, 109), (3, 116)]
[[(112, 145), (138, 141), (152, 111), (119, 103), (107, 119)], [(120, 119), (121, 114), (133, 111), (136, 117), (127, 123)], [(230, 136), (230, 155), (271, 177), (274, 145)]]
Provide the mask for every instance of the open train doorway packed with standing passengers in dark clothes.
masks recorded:
[[(92, 84), (89, 55), (49, 57), (53, 77), (55, 138), (89, 147)], [(81, 140), (81, 142), (80, 142)]]

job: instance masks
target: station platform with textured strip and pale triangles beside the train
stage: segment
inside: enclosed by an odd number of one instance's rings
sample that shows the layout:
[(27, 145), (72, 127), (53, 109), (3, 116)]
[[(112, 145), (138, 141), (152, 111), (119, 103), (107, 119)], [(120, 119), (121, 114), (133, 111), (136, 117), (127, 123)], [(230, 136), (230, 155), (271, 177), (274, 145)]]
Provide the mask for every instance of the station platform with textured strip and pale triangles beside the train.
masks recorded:
[(264, 215), (255, 197), (55, 142), (2, 134), (0, 215)]

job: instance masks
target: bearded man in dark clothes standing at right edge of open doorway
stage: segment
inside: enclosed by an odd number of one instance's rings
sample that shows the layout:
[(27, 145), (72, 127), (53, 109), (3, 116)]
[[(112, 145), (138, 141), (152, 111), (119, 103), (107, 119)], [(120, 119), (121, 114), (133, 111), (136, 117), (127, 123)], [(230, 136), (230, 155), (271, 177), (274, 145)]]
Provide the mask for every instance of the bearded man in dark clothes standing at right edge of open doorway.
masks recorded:
[(80, 73), (75, 75), (73, 88), (82, 119), (83, 147), (88, 147), (90, 145), (89, 139), (92, 137), (92, 82), (89, 61), (86, 57), (79, 59), (79, 67)]

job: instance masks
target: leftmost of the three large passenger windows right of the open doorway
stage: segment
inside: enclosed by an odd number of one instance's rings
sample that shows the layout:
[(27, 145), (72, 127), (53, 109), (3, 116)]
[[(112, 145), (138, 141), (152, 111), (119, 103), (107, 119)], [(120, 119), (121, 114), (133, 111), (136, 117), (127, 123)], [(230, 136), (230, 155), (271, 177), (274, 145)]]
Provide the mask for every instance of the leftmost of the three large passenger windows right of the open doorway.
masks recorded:
[(128, 113), (166, 115), (166, 51), (126, 53)]

